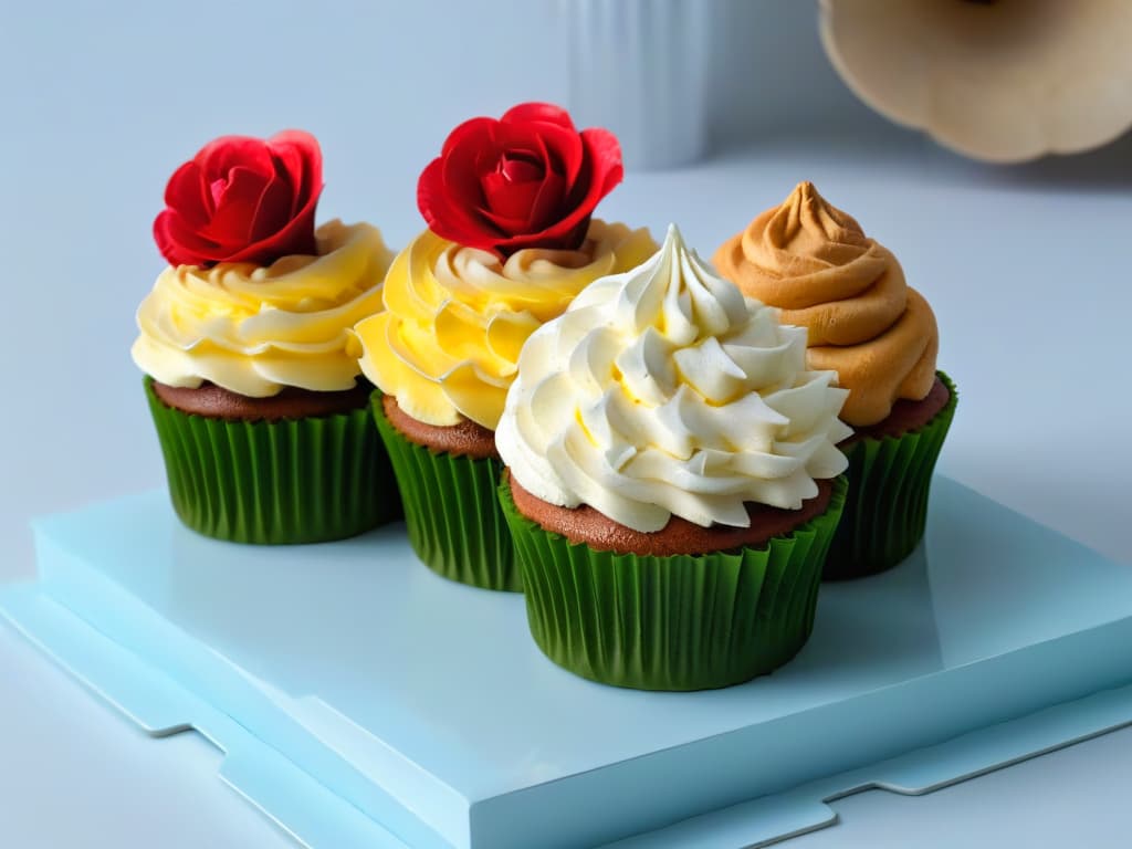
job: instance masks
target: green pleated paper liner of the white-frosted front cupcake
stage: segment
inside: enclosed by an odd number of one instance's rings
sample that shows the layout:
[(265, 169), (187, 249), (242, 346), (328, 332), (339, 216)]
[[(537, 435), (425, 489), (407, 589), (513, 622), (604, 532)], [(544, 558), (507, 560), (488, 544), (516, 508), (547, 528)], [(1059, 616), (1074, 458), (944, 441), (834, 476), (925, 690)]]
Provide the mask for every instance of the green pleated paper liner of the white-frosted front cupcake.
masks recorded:
[(844, 497), (839, 478), (824, 513), (761, 548), (658, 557), (571, 542), (499, 488), (543, 653), (583, 678), (663, 691), (739, 684), (798, 653)]

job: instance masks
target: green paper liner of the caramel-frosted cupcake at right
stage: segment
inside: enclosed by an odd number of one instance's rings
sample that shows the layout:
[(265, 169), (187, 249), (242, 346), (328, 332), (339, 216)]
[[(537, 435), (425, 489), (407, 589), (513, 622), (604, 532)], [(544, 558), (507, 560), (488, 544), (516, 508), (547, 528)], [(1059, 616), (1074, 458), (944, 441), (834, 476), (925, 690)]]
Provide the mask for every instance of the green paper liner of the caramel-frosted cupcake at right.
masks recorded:
[(899, 437), (865, 437), (846, 452), (849, 495), (825, 561), (826, 581), (884, 572), (901, 563), (924, 537), (932, 473), (955, 414), (955, 385), (926, 424)]

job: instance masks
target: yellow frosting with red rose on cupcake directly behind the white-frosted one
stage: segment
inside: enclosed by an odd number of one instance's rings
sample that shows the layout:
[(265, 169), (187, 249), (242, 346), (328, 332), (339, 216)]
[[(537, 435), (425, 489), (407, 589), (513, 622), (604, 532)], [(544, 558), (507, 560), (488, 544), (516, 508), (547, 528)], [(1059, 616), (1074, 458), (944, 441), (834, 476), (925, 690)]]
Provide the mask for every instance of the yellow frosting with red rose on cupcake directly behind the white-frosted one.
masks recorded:
[(620, 179), (617, 139), (550, 104), (453, 130), (418, 185), (429, 229), (394, 260), (387, 311), (354, 328), (365, 375), (418, 421), (494, 430), (528, 336), (655, 250), (592, 217)]

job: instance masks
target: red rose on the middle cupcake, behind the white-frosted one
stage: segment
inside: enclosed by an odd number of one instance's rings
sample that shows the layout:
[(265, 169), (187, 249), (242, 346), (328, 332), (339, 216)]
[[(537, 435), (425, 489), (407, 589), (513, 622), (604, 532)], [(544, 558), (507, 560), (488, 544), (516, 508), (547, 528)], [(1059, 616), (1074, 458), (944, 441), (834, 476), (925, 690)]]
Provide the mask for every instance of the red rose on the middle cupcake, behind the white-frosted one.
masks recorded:
[(623, 177), (614, 134), (578, 132), (565, 110), (523, 103), (454, 129), (421, 173), (417, 205), (437, 235), (500, 257), (577, 248), (593, 207)]

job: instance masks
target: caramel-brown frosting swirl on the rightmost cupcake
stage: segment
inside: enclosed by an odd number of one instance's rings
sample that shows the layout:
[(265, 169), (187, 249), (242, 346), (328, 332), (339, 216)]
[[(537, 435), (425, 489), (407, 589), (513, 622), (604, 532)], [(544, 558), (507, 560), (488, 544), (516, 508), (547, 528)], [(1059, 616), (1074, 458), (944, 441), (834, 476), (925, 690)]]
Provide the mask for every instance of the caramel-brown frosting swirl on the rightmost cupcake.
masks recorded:
[(892, 252), (813, 183), (799, 183), (713, 259), (745, 294), (778, 307), (783, 324), (807, 329), (809, 368), (835, 370), (849, 389), (849, 424), (875, 424), (899, 398), (931, 392), (940, 348), (932, 308)]

